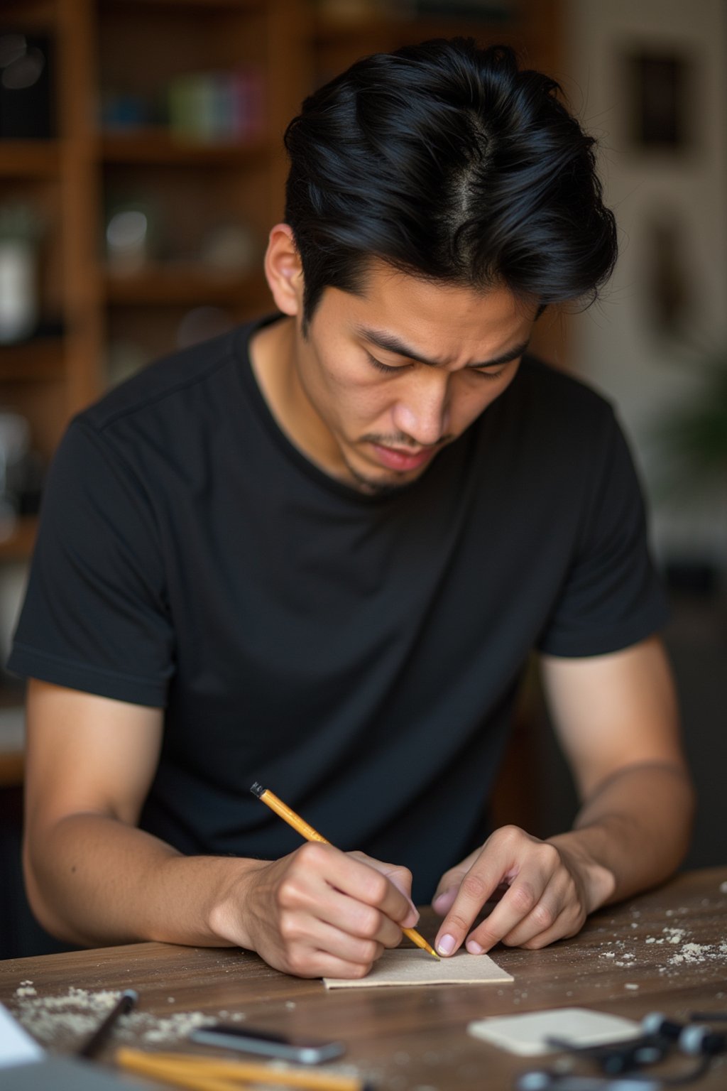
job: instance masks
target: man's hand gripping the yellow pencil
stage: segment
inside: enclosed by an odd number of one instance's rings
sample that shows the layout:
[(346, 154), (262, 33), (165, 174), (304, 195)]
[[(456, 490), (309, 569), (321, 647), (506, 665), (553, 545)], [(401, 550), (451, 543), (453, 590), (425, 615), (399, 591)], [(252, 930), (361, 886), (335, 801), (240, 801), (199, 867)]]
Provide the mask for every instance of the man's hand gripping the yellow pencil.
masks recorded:
[(363, 853), (307, 842), (281, 860), (246, 864), (242, 889), (230, 891), (214, 925), (240, 942), (244, 914), (257, 954), (299, 978), (363, 978), (419, 920), (411, 874)]

